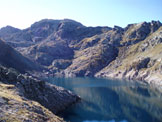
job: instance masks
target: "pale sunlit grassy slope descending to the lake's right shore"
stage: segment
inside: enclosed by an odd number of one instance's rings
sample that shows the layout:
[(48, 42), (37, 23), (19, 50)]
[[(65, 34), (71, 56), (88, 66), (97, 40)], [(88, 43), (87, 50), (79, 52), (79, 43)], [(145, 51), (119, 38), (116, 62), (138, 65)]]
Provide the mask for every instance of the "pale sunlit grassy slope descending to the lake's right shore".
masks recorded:
[[(162, 27), (140, 43), (119, 49), (119, 55), (96, 77), (126, 78), (162, 85)], [(124, 49), (124, 50), (123, 50)]]

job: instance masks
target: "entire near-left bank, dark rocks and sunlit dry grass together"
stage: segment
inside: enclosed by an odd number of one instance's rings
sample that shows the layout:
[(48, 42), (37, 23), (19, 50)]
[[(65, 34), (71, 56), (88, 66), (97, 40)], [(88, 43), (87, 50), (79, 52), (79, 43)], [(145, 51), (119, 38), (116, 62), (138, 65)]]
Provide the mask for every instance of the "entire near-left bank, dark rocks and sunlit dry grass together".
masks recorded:
[(0, 66), (1, 122), (62, 122), (54, 114), (79, 99), (61, 87)]

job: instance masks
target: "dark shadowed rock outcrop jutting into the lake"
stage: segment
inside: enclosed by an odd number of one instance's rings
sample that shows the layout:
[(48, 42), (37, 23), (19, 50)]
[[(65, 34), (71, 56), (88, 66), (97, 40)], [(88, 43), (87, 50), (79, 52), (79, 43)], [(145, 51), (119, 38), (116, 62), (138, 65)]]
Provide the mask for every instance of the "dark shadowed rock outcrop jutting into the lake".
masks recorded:
[(20, 90), (20, 95), (41, 103), (54, 113), (79, 100), (79, 97), (70, 91), (37, 80), (32, 76), (19, 74), (14, 69), (0, 67), (0, 81), (15, 85)]

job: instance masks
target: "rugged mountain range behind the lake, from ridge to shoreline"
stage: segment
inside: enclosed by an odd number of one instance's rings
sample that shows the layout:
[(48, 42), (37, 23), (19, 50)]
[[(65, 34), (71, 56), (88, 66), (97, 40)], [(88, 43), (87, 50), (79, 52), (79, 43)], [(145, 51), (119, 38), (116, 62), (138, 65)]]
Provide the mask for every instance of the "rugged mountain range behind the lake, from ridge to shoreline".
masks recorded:
[(45, 19), (2, 38), (46, 67), (52, 76), (115, 77), (158, 83), (162, 80), (161, 26), (161, 22), (152, 21), (125, 28), (86, 27), (69, 19)]

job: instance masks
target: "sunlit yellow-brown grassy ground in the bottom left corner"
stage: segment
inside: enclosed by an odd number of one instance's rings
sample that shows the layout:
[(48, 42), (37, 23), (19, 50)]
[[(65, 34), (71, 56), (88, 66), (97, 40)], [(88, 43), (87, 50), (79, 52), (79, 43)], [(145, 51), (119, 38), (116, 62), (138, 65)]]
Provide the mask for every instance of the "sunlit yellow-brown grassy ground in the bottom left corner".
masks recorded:
[(63, 122), (38, 102), (19, 96), (14, 85), (0, 82), (1, 122)]

